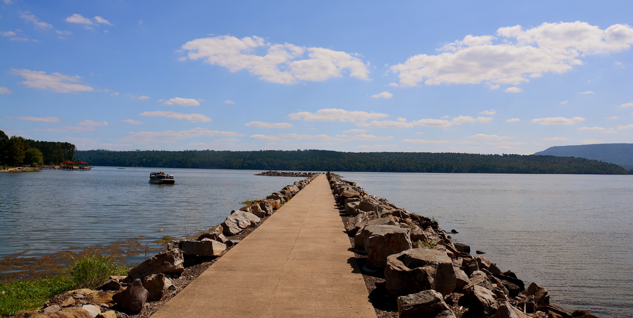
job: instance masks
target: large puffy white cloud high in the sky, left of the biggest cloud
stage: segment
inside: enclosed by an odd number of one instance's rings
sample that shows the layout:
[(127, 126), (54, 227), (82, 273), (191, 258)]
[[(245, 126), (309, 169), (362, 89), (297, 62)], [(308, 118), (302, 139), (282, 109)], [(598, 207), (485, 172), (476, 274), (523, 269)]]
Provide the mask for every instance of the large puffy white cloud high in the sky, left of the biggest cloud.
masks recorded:
[[(367, 65), (355, 54), (325, 48), (305, 48), (294, 44), (272, 44), (263, 38), (230, 35), (195, 39), (182, 46), (189, 51), (190, 60), (203, 59), (211, 65), (220, 65), (230, 72), (248, 70), (262, 80), (280, 84), (296, 84), (342, 77), (344, 70), (349, 76), (368, 80)], [(265, 49), (265, 55), (254, 54)], [(308, 58), (304, 58), (305, 54)], [(304, 58), (301, 60), (301, 58)]]

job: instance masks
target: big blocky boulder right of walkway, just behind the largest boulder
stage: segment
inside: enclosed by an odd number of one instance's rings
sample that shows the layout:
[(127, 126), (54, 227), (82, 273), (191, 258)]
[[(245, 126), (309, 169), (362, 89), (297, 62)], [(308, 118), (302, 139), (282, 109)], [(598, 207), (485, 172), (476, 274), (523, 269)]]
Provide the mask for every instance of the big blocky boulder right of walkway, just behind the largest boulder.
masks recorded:
[(399, 226), (366, 226), (363, 231), (366, 230), (367, 267), (382, 269), (387, 265), (389, 255), (411, 248), (409, 229)]

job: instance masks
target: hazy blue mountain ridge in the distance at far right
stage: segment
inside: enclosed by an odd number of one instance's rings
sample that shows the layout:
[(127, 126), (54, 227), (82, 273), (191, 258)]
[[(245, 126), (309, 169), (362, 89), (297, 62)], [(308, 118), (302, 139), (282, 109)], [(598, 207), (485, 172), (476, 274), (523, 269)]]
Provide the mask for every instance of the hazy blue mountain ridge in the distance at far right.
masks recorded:
[(573, 156), (615, 163), (624, 169), (633, 169), (633, 144), (581, 144), (577, 146), (554, 146), (534, 155)]

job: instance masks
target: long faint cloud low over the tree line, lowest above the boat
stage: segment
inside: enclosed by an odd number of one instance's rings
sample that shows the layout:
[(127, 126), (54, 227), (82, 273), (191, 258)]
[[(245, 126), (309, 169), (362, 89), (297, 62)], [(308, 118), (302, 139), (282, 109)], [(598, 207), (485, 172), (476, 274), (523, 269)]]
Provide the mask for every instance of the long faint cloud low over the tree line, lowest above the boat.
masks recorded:
[(200, 127), (196, 127), (191, 130), (165, 130), (161, 132), (153, 132), (153, 131), (141, 131), (141, 132), (128, 132), (128, 136), (119, 138), (119, 139), (111, 139), (115, 141), (120, 141), (123, 143), (133, 143), (133, 144), (149, 144), (149, 143), (176, 143), (181, 139), (189, 139), (195, 137), (241, 137), (244, 134), (239, 134), (237, 132), (232, 131), (218, 131), (218, 130), (208, 130)]

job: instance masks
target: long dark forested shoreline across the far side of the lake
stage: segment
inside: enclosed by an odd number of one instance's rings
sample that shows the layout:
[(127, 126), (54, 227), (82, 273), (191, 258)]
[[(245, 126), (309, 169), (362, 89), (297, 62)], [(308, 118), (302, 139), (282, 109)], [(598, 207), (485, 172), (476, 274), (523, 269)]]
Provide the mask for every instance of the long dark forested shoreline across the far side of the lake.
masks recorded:
[(118, 167), (437, 172), (484, 174), (626, 174), (612, 163), (584, 158), (469, 153), (351, 153), (329, 150), (77, 151), (77, 160)]

